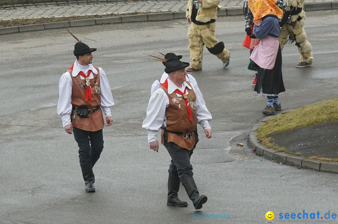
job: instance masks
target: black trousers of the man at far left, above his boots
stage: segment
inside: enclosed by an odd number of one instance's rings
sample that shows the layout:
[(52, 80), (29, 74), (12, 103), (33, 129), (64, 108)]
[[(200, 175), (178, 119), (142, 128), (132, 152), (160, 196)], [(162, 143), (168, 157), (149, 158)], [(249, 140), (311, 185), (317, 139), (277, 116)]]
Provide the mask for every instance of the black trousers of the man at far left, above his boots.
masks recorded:
[(74, 138), (79, 147), (80, 164), (95, 165), (103, 150), (102, 129), (98, 131), (84, 131), (73, 127)]

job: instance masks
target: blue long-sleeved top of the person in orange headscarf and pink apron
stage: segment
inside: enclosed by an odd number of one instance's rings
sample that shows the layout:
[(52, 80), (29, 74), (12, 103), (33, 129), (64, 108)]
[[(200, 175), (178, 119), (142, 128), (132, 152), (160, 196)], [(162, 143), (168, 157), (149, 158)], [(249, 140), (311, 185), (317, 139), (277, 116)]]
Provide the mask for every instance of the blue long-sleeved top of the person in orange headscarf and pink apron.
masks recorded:
[(264, 39), (267, 35), (279, 37), (281, 34), (281, 27), (279, 26), (277, 17), (265, 17), (260, 26), (254, 27), (254, 33), (258, 39)]

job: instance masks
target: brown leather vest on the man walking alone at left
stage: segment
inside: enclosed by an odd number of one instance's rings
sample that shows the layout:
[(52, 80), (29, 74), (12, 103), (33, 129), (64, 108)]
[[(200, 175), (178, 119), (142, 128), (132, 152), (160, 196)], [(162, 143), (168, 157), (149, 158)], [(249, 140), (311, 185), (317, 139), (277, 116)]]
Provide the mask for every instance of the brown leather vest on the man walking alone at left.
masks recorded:
[[(73, 81), (73, 89), (72, 89), (72, 105), (80, 106), (86, 105), (88, 109), (94, 108), (101, 104), (101, 94), (100, 94), (100, 70), (98, 67), (94, 66), (97, 70), (97, 74), (93, 73), (94, 78), (89, 79), (91, 94), (92, 94), (92, 102), (86, 98), (86, 81), (80, 78), (80, 75), (77, 74), (75, 77), (72, 76), (72, 70), (68, 70), (70, 76)], [(83, 87), (83, 88), (82, 88)], [(75, 116), (74, 116), (75, 115)], [(75, 110), (72, 110), (71, 114), (72, 125), (76, 128), (85, 130), (85, 131), (98, 131), (101, 130), (104, 126), (102, 110), (99, 108), (95, 111), (95, 113), (88, 114), (88, 118), (80, 118), (77, 116)]]

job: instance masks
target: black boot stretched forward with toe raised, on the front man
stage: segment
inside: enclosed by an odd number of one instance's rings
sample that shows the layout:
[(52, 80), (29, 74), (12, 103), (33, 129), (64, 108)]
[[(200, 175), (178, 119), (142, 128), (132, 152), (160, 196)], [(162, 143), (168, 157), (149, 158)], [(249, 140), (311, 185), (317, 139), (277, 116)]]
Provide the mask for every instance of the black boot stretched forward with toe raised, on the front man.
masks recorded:
[(202, 204), (207, 202), (208, 197), (205, 195), (199, 195), (194, 178), (189, 175), (185, 176), (183, 178), (183, 186), (186, 189), (190, 200), (192, 200), (195, 209), (201, 209)]

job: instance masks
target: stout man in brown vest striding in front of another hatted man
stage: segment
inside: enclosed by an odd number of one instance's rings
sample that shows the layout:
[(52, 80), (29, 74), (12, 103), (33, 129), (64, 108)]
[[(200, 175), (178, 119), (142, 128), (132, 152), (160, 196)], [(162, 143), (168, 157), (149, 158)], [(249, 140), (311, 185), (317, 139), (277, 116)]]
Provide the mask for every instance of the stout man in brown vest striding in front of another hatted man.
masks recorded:
[(211, 138), (209, 113), (203, 96), (196, 85), (186, 82), (185, 68), (189, 63), (176, 58), (169, 58), (165, 62), (165, 72), (169, 78), (150, 97), (147, 117), (142, 127), (148, 131), (150, 149), (158, 152), (157, 131), (162, 127), (161, 143), (171, 156), (168, 177), (169, 206), (187, 206), (186, 201), (178, 198), (179, 183), (183, 186), (192, 200), (195, 209), (200, 209), (207, 201), (207, 196), (199, 195), (197, 190), (190, 157), (195, 147), (194, 130), (199, 123)]

